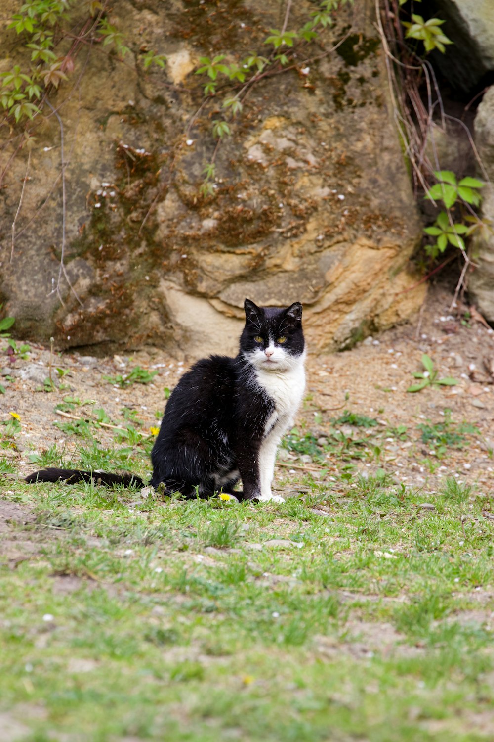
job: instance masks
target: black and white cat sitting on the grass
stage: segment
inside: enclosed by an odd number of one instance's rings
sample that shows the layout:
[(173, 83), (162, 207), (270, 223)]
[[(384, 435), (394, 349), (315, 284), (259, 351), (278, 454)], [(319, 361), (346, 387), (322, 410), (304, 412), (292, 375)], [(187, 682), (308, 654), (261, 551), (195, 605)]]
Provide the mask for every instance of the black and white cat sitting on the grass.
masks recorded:
[[(165, 494), (275, 500), (276, 449), (292, 425), (305, 387), (302, 306), (261, 308), (244, 302), (245, 326), (236, 358), (212, 355), (185, 373), (170, 395), (151, 453), (152, 487)], [(44, 469), (27, 482), (144, 482), (132, 474)], [(234, 491), (241, 479), (244, 489)], [(161, 490), (161, 487), (160, 487)]]

